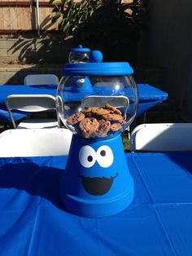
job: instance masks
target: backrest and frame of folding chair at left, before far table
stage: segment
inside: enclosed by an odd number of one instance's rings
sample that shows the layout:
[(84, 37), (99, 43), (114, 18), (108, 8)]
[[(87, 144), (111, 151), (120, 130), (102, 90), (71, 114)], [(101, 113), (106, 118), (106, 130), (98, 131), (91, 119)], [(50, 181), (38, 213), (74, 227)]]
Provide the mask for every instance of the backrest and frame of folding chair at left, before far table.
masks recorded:
[(34, 113), (56, 109), (56, 104), (55, 97), (52, 95), (9, 95), (6, 99), (6, 107), (15, 128), (12, 109)]

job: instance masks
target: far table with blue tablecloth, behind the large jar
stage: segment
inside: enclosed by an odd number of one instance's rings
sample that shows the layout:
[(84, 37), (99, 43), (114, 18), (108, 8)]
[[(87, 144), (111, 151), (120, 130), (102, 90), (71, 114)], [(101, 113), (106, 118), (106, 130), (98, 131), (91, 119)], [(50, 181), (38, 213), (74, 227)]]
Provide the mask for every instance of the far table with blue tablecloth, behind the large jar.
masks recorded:
[[(164, 100), (168, 99), (168, 94), (163, 90), (159, 90), (154, 86), (148, 84), (138, 84), (139, 92), (139, 104), (137, 108), (137, 116), (146, 113), (150, 108), (154, 107), (156, 104), (162, 103)], [(0, 121), (6, 123), (10, 122), (9, 115), (5, 106), (5, 99), (8, 95), (27, 95), (27, 94), (49, 94), (56, 95), (57, 86), (46, 85), (46, 86), (27, 86), (27, 85), (4, 85), (0, 86)], [(26, 117), (26, 114), (20, 112), (13, 112), (13, 117), (15, 121), (20, 120), (20, 118)]]

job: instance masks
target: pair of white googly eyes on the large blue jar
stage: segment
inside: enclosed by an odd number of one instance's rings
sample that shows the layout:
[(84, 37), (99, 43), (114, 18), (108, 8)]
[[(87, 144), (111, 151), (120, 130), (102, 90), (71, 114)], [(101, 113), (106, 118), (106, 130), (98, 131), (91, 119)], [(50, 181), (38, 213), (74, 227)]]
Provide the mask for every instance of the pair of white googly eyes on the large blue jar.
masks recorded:
[(95, 152), (94, 148), (86, 145), (80, 149), (79, 160), (81, 165), (90, 168), (98, 161), (99, 166), (107, 168), (113, 163), (113, 153), (110, 147), (103, 145)]

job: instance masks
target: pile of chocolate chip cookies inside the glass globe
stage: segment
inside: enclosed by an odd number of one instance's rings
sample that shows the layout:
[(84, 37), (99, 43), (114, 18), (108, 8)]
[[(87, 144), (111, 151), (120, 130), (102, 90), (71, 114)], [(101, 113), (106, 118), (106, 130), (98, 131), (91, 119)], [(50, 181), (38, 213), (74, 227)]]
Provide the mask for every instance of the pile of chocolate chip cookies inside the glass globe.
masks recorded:
[(85, 108), (68, 117), (67, 124), (75, 127), (84, 138), (105, 137), (109, 132), (120, 130), (125, 124), (119, 109), (105, 104), (102, 108)]

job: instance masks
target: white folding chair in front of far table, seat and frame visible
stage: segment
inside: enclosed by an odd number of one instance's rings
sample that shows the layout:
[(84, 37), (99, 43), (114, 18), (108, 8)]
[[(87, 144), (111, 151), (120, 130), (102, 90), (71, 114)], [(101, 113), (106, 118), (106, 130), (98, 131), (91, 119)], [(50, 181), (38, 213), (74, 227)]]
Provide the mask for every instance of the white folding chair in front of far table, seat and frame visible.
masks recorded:
[(26, 113), (41, 113), (54, 110), (56, 114), (55, 97), (52, 95), (9, 95), (6, 99), (6, 107), (14, 128), (55, 128), (59, 126), (57, 119), (33, 119), (27, 118), (15, 125), (11, 110), (19, 110)]

